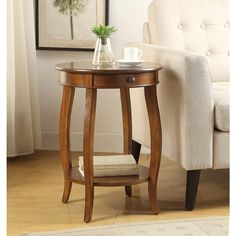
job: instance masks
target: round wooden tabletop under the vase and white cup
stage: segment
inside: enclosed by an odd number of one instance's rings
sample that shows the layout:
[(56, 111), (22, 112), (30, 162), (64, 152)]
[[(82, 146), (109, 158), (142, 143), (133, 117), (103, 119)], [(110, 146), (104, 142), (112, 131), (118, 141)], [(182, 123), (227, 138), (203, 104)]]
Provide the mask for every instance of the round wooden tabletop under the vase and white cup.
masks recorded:
[(70, 73), (93, 73), (93, 74), (126, 74), (142, 73), (161, 70), (162, 66), (157, 63), (145, 62), (138, 66), (120, 66), (118, 63), (110, 67), (94, 66), (90, 61), (65, 62), (56, 65), (59, 71)]

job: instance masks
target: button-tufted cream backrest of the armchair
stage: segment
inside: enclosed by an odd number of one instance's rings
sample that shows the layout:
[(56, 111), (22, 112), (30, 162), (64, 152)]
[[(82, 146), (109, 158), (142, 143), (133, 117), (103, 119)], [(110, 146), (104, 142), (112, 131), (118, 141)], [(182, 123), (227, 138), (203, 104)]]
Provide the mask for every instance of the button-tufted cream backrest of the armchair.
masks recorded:
[(207, 56), (212, 81), (229, 80), (228, 0), (154, 0), (150, 43)]

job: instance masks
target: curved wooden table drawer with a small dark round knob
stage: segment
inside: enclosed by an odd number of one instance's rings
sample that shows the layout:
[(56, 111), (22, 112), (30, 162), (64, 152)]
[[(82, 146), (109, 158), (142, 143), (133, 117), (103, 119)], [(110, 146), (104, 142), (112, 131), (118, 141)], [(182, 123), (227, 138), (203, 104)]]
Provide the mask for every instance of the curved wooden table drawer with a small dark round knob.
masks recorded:
[(158, 83), (157, 73), (94, 75), (94, 88), (144, 87)]

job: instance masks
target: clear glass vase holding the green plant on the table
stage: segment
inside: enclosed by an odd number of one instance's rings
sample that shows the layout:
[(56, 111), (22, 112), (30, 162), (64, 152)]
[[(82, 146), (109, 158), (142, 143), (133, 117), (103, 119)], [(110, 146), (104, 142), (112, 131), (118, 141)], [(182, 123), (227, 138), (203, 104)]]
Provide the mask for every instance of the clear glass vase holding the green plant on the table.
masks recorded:
[(97, 38), (96, 47), (93, 55), (93, 65), (112, 66), (115, 59), (109, 38)]

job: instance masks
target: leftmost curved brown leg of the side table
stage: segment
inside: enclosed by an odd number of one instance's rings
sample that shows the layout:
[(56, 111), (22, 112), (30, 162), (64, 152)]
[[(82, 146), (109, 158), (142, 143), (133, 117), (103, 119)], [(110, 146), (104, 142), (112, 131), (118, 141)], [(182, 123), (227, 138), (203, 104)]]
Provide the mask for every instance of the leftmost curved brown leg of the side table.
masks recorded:
[(68, 172), (71, 168), (70, 157), (70, 118), (71, 110), (74, 100), (75, 88), (69, 86), (63, 86), (63, 97), (61, 103), (60, 113), (60, 150), (61, 150), (61, 162), (64, 170), (64, 193), (62, 202), (66, 203), (69, 200), (72, 182), (68, 180)]

